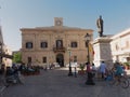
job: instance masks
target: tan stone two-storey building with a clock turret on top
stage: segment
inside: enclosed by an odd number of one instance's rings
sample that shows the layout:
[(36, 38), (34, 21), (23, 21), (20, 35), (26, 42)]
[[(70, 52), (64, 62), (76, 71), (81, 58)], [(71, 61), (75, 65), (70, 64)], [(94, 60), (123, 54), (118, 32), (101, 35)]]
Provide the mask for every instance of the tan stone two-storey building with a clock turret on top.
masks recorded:
[(22, 61), (31, 65), (58, 63), (65, 66), (69, 58), (72, 61), (84, 63), (88, 55), (84, 36), (89, 33), (93, 41), (92, 29), (63, 26), (62, 17), (54, 18), (54, 26), (22, 28), (21, 31)]

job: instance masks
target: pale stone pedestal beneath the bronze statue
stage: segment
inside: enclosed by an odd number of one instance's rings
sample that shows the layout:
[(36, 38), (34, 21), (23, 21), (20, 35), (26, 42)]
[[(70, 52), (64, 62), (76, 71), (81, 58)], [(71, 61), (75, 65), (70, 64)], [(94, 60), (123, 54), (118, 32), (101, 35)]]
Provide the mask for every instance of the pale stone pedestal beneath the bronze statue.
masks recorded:
[(105, 61), (107, 68), (113, 67), (113, 59), (112, 59), (112, 50), (110, 50), (110, 41), (112, 39), (107, 37), (101, 37), (94, 40), (93, 47), (94, 47), (94, 60), (96, 67), (100, 66), (101, 61)]

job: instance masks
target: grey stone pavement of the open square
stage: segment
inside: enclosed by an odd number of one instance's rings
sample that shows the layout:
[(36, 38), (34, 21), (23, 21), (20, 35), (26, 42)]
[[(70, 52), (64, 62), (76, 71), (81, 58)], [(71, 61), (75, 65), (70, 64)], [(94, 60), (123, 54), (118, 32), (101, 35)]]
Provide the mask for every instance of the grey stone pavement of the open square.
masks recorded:
[(95, 80), (95, 85), (86, 85), (86, 78), (68, 77), (68, 70), (41, 70), (40, 75), (25, 77), (24, 85), (4, 89), (1, 97), (130, 97), (130, 87), (109, 86)]

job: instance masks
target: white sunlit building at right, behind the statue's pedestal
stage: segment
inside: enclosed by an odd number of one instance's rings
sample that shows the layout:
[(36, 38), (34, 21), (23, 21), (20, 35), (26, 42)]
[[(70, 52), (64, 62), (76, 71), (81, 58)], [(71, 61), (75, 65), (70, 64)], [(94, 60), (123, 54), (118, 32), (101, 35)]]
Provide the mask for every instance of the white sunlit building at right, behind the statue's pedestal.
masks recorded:
[(130, 60), (130, 29), (112, 37), (110, 42), (113, 61)]

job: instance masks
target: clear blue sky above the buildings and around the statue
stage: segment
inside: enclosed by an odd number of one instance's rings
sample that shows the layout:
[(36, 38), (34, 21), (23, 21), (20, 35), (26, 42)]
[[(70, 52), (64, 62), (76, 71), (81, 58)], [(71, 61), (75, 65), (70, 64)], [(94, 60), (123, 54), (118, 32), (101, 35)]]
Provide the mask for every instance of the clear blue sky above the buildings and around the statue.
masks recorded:
[(0, 0), (3, 40), (13, 51), (20, 50), (20, 28), (53, 26), (54, 17), (64, 25), (94, 30), (96, 19), (104, 19), (104, 34), (130, 28), (130, 0)]

